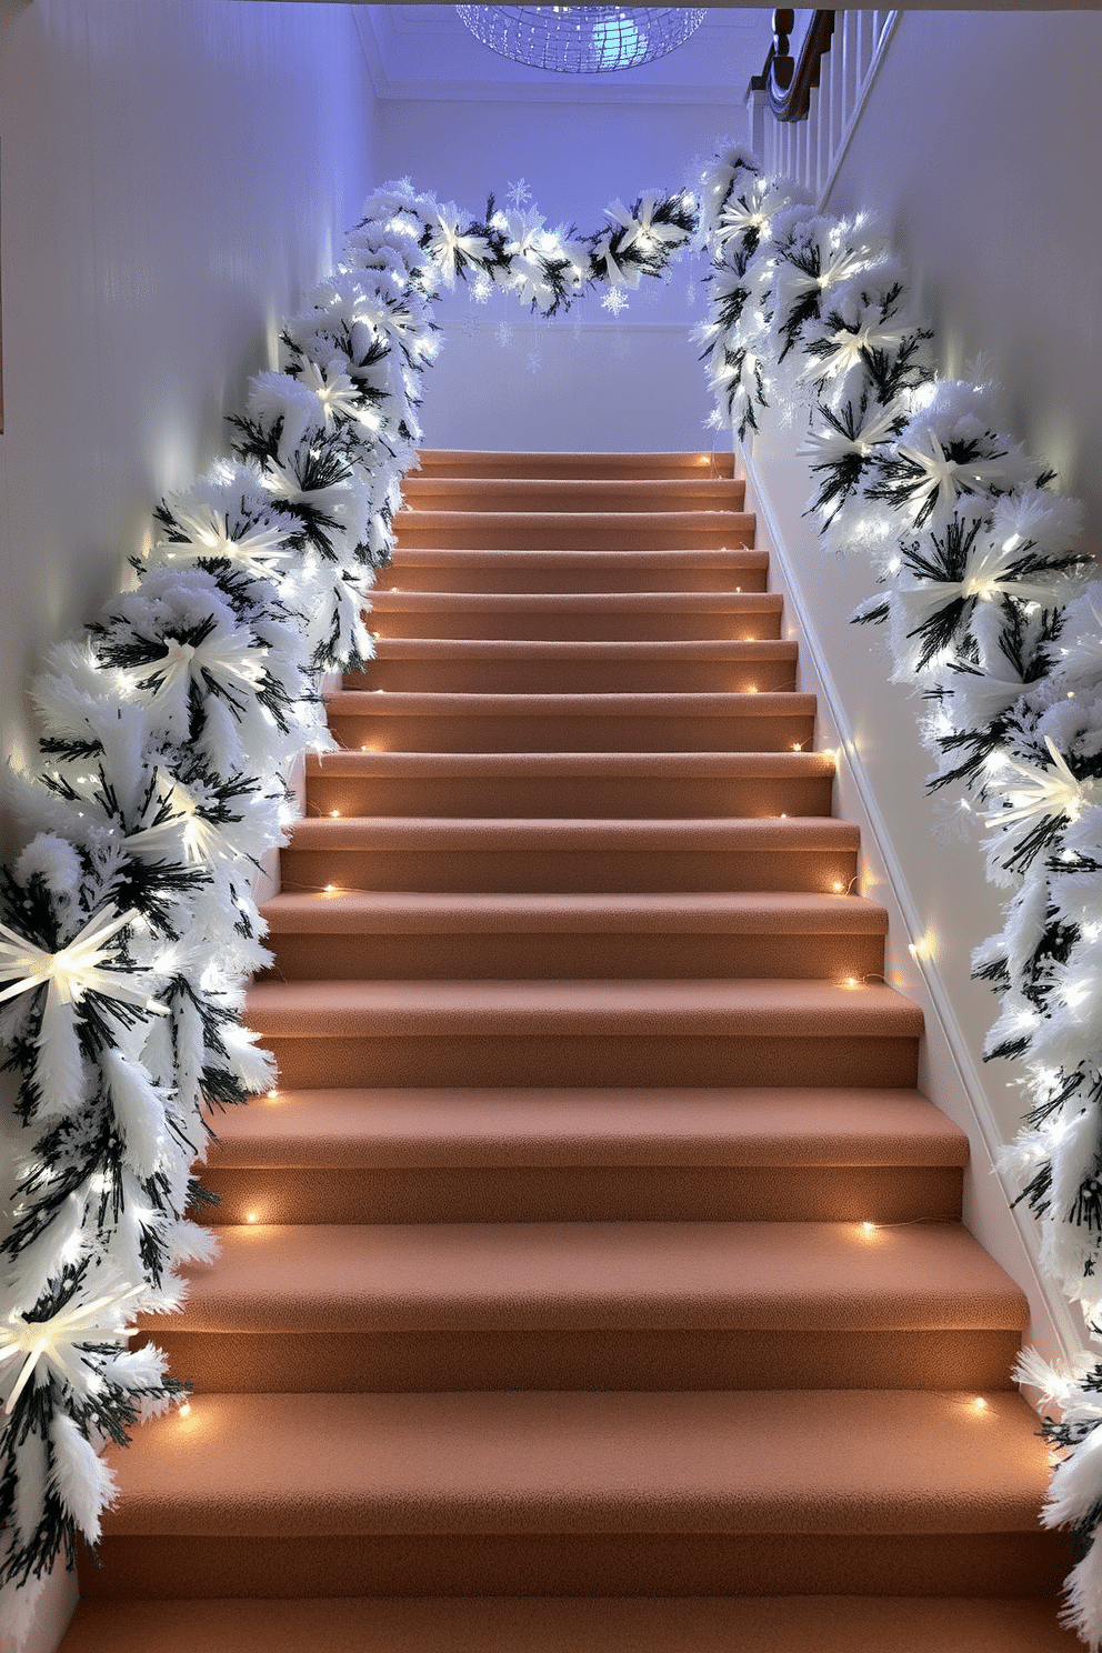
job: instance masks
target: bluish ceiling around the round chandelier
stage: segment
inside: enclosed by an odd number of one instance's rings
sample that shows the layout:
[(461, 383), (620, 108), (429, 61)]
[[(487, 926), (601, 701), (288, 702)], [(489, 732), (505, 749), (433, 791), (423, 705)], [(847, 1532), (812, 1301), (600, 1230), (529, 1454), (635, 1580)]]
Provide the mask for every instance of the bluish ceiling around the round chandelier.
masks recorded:
[(525, 102), (725, 102), (760, 73), (772, 12), (709, 10), (677, 51), (616, 74), (555, 74), (499, 58), (451, 5), (360, 5), (355, 18), (378, 98)]

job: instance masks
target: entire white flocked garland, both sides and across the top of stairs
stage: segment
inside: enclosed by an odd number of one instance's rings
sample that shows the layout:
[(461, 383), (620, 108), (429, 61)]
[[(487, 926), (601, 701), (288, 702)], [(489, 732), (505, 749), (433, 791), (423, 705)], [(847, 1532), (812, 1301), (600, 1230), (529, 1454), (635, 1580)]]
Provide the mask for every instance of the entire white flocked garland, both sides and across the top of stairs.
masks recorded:
[[(8, 779), (26, 848), (0, 878), (0, 1038), (15, 1073), (17, 1203), (0, 1243), (0, 1617), (30, 1623), (58, 1554), (99, 1536), (97, 1448), (182, 1400), (135, 1314), (170, 1312), (213, 1255), (187, 1208), (218, 1109), (274, 1083), (240, 1022), (268, 962), (253, 899), (294, 817), (296, 759), (324, 752), (319, 679), (367, 660), (400, 481), (436, 354), (433, 301), (474, 276), (539, 314), (623, 294), (709, 255), (701, 342), (714, 430), (806, 405), (826, 542), (864, 549), (895, 678), (929, 703), (932, 785), (963, 785), (1006, 924), (976, 972), (1003, 993), (988, 1055), (1018, 1060), (1029, 1112), (1005, 1169), (1051, 1281), (1102, 1319), (1102, 585), (1077, 511), (1000, 430), (991, 393), (938, 380), (905, 276), (866, 220), (816, 217), (745, 150), (691, 190), (616, 202), (610, 226), (479, 218), (385, 185), (335, 273), (251, 382), (233, 458), (155, 512), (132, 588), (35, 684), (40, 764)], [(971, 802), (970, 802), (971, 800)], [(1021, 1377), (1056, 1415), (1044, 1519), (1084, 1559), (1069, 1620), (1102, 1643), (1102, 1359)]]

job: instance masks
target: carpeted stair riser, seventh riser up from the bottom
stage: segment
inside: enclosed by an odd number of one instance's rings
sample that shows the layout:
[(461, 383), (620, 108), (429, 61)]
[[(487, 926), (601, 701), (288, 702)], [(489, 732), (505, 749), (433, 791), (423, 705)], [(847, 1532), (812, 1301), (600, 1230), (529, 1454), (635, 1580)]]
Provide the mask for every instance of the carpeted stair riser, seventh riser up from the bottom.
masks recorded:
[[(722, 775), (337, 775), (307, 772), (309, 815), (509, 820), (684, 820), (829, 815), (834, 777)], [(329, 883), (330, 879), (327, 879)]]

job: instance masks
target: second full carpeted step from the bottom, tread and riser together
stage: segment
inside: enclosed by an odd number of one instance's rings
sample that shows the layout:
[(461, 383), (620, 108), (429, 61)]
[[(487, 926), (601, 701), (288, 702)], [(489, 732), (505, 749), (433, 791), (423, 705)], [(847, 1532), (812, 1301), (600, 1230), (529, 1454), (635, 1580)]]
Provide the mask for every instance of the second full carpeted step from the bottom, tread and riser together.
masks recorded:
[(147, 1329), (202, 1393), (1011, 1390), (1026, 1322), (960, 1223), (246, 1223)]

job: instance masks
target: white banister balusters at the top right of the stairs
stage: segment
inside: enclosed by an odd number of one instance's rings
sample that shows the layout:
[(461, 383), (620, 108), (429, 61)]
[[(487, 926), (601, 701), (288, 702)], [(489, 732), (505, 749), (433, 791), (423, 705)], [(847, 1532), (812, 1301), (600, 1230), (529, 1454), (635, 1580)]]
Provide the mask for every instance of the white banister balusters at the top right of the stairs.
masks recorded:
[(834, 13), (834, 33), (801, 119), (778, 119), (765, 76), (755, 76), (747, 93), (750, 147), (767, 174), (791, 179), (824, 200), (897, 20), (899, 12)]

